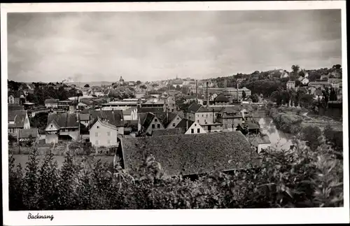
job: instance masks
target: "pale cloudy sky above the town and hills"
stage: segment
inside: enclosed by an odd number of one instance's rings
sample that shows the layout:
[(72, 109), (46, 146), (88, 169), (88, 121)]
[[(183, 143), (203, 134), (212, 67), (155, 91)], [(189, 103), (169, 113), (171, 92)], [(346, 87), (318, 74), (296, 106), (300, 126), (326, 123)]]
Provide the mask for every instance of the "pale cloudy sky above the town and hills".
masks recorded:
[(214, 78), (342, 64), (340, 10), (9, 13), (8, 78)]

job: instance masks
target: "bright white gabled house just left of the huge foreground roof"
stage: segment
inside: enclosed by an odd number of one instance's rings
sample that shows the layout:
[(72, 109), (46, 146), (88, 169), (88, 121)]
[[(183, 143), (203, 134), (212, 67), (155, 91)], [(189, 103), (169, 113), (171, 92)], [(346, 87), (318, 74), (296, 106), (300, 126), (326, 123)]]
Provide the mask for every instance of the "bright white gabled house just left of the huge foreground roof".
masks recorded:
[(117, 146), (118, 135), (124, 134), (124, 130), (123, 133), (121, 133), (116, 125), (109, 123), (109, 120), (106, 118), (99, 118), (99, 116), (97, 116), (97, 120), (94, 121), (89, 132), (92, 146), (105, 147)]

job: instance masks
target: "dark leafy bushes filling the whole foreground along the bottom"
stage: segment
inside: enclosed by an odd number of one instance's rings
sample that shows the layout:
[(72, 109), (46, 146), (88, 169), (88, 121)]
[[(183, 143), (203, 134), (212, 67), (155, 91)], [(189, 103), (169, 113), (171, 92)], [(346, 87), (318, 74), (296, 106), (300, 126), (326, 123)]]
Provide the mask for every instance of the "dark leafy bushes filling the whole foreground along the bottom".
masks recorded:
[(324, 143), (316, 150), (295, 140), (294, 151), (262, 155), (259, 169), (214, 172), (191, 181), (162, 173), (148, 157), (137, 174), (66, 154), (38, 164), (36, 150), (25, 170), (9, 159), (10, 210), (228, 209), (343, 206), (342, 160)]

